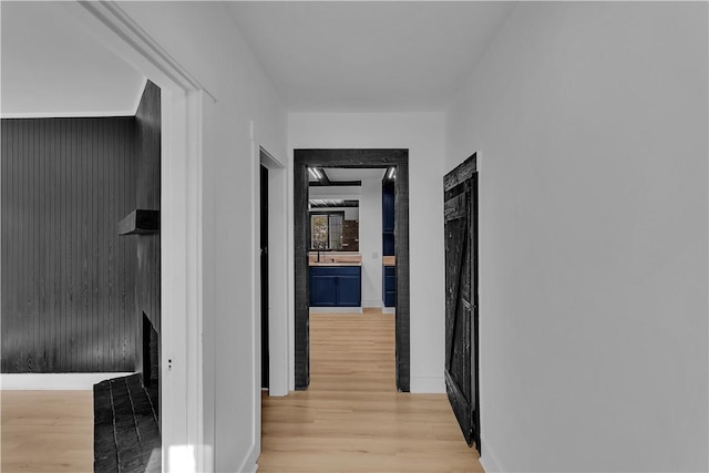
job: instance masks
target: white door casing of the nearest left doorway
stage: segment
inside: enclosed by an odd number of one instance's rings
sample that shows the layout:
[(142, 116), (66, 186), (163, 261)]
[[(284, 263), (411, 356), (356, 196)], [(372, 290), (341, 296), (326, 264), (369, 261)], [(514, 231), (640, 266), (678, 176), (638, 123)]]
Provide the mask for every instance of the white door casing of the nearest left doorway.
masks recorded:
[[(131, 18), (107, 2), (62, 2), (99, 41), (162, 91), (161, 179), (161, 434), (163, 465), (194, 460), (206, 470), (202, 383), (202, 123), (214, 96)], [(166, 335), (169, 333), (169, 337)], [(197, 445), (193, 451), (187, 445)]]

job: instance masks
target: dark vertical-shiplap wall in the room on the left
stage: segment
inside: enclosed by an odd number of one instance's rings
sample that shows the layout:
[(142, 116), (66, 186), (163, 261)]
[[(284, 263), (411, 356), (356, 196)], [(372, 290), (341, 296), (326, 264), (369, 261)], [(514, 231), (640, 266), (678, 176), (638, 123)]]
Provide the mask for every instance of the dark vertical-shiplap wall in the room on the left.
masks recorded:
[(132, 371), (135, 119), (1, 128), (2, 372)]

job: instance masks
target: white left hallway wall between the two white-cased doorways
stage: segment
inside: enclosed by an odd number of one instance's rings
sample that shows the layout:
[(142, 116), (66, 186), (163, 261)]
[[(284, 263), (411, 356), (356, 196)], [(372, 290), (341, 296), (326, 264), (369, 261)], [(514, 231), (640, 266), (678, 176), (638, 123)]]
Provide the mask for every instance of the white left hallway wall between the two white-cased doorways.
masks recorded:
[(121, 8), (216, 97), (204, 110), (201, 209), (205, 440), (217, 471), (254, 471), (260, 449), (258, 146), (285, 162), (285, 112), (223, 3)]

